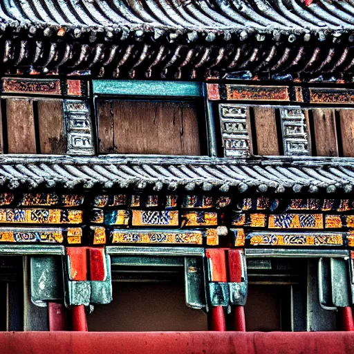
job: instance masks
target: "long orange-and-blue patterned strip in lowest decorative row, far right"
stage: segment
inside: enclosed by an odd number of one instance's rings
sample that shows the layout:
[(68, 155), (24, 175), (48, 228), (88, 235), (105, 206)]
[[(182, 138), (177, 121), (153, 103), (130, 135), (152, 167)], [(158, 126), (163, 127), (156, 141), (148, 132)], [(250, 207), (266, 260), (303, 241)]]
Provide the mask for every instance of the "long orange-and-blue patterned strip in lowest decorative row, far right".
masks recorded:
[(343, 235), (335, 233), (272, 233), (272, 232), (250, 232), (247, 238), (251, 245), (263, 246), (321, 246), (321, 245), (343, 245)]

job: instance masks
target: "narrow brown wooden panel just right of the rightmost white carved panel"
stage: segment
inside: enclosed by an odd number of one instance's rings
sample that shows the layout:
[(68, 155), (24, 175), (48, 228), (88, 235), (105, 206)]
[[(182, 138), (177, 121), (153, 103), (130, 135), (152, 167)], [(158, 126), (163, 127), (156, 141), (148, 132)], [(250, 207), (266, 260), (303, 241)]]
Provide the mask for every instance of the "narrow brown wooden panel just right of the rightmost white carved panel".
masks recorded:
[(313, 109), (317, 156), (338, 156), (334, 109)]

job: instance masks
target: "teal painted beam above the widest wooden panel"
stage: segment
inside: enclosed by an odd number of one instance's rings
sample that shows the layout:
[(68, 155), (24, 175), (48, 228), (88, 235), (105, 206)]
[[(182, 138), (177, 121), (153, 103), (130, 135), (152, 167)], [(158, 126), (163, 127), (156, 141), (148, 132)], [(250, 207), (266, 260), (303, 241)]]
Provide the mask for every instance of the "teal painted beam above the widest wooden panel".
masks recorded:
[(133, 95), (160, 97), (200, 97), (200, 82), (93, 80), (93, 93), (98, 95)]

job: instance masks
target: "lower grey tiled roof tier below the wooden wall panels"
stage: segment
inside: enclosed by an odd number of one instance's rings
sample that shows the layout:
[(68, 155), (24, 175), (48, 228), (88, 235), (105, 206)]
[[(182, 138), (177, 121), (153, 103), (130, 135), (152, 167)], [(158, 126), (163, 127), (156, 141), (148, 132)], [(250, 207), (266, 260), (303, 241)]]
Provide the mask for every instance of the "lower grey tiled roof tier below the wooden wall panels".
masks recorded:
[(97, 158), (1, 156), (0, 183), (17, 187), (138, 189), (204, 192), (351, 192), (354, 158)]

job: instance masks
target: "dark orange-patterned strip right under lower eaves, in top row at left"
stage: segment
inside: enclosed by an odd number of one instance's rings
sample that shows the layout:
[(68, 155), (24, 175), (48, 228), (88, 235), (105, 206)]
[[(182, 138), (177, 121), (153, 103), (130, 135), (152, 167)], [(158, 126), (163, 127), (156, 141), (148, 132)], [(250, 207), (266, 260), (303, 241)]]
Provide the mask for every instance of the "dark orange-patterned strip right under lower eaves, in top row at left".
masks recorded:
[(25, 207), (30, 206), (62, 206), (62, 207), (77, 207), (84, 203), (84, 196), (77, 194), (63, 194), (58, 196), (55, 193), (35, 193), (24, 194), (20, 205)]

